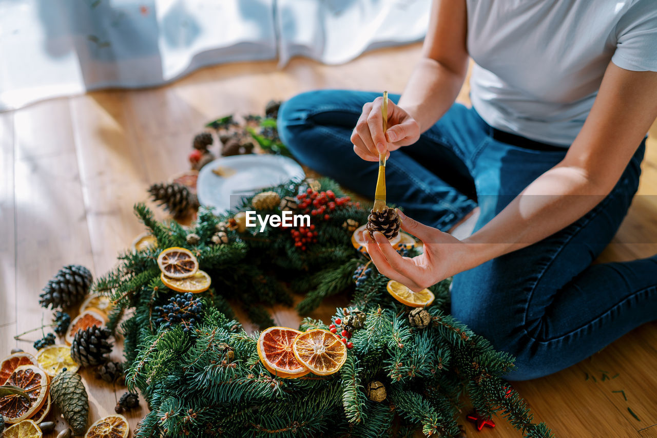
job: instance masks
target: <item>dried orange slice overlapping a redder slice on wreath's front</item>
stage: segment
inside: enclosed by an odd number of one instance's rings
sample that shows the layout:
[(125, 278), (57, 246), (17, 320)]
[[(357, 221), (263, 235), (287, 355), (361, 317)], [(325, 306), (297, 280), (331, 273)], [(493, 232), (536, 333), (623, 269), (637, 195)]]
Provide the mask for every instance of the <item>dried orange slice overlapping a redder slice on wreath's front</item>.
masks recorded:
[(301, 333), (292, 343), (294, 356), (313, 374), (328, 376), (347, 360), (347, 346), (338, 335), (323, 329)]

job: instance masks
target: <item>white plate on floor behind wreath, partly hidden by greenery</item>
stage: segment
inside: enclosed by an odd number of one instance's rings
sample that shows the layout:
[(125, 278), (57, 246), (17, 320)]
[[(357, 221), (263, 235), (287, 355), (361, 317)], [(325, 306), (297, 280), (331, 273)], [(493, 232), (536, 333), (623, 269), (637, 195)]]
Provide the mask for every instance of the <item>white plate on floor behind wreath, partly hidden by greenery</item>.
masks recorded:
[[(218, 176), (212, 170), (222, 168), (229, 176)], [(286, 181), (306, 178), (301, 166), (281, 155), (234, 155), (214, 160), (198, 172), (198, 202), (223, 214), (239, 205), (244, 197)]]

